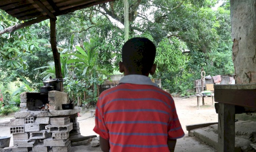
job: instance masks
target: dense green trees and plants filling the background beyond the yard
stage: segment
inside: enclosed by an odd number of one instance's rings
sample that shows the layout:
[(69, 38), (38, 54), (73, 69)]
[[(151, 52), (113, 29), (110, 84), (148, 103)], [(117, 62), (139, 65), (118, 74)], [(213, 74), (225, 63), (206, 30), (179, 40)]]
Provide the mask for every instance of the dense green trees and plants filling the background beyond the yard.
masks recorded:
[[(229, 2), (214, 11), (217, 3), (129, 0), (130, 38), (147, 37), (155, 43), (158, 68), (153, 77), (162, 79), (164, 89), (190, 94), (201, 68), (207, 75), (234, 73)], [(0, 30), (22, 22), (1, 10), (0, 15)], [(117, 70), (121, 60), (123, 2), (112, 1), (57, 18), (65, 91), (74, 102), (96, 101), (97, 84)], [(55, 77), (54, 73), (48, 20), (0, 36), (0, 85), (10, 90), (7, 86), (12, 81), (18, 88), (9, 101), (22, 91), (38, 91), (42, 80)]]

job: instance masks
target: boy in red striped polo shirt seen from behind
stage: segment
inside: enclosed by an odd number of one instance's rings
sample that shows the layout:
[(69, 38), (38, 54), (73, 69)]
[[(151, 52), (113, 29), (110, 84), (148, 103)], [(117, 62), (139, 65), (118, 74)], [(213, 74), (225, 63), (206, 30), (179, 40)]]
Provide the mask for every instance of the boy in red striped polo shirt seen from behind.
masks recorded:
[(101, 93), (94, 131), (104, 152), (173, 152), (184, 136), (171, 95), (148, 77), (156, 70), (155, 45), (132, 38), (122, 48), (118, 86)]

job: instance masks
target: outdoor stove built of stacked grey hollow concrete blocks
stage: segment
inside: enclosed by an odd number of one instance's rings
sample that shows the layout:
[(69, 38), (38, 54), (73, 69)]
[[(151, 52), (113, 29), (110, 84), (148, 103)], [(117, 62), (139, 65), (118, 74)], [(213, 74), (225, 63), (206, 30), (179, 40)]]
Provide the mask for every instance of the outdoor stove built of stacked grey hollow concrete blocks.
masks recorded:
[[(71, 147), (71, 133), (78, 134), (77, 112), (62, 110), (61, 104), (67, 103), (67, 94), (50, 91), (48, 94), (25, 92), (20, 95), (20, 107), (15, 119), (10, 121), (15, 152), (68, 152)], [(38, 108), (49, 102), (49, 112)], [(74, 134), (73, 134), (74, 135)]]

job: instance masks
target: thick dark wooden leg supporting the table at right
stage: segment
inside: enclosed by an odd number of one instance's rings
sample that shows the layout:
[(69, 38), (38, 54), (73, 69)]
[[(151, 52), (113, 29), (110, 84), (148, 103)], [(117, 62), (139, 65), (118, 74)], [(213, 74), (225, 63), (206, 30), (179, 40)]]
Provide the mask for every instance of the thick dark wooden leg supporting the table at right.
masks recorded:
[(234, 151), (235, 147), (235, 107), (219, 103), (218, 109), (218, 152)]

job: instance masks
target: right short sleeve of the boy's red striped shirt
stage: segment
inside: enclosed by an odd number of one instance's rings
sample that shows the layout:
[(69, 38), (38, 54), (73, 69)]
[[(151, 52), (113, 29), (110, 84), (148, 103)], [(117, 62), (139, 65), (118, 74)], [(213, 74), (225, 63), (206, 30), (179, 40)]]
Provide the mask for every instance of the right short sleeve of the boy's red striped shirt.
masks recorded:
[(181, 123), (178, 118), (174, 101), (172, 99), (172, 106), (170, 111), (170, 118), (168, 124), (168, 138), (169, 139), (178, 139), (184, 136), (184, 131), (181, 128)]

